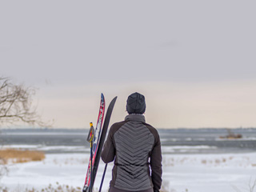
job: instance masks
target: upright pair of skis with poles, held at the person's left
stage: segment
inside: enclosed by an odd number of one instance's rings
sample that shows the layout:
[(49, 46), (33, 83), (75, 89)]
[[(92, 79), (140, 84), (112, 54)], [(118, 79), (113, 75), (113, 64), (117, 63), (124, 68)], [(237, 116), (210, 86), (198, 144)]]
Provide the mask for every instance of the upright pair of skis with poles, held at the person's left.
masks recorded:
[[(110, 123), (110, 117), (114, 108), (114, 103), (116, 102), (117, 98), (118, 97), (113, 98), (112, 101), (110, 102), (110, 105), (108, 106), (108, 109), (106, 111), (106, 117), (102, 126), (104, 112), (105, 112), (105, 98), (103, 94), (101, 95), (101, 102), (100, 102), (100, 108), (98, 113), (98, 122), (96, 124), (95, 130), (91, 126), (90, 133), (87, 138), (87, 141), (89, 141), (90, 137), (92, 137), (92, 140), (90, 140), (91, 152), (90, 152), (90, 161), (89, 161), (89, 165), (86, 173), (86, 181), (82, 189), (82, 192), (92, 192), (94, 181), (95, 181), (97, 170), (98, 170), (98, 164), (102, 154), (102, 147), (106, 138), (106, 131), (108, 129), (108, 126)], [(102, 176), (102, 182), (104, 179), (105, 171), (106, 171), (106, 166)], [(100, 186), (100, 190), (101, 188), (102, 188), (102, 183)]]

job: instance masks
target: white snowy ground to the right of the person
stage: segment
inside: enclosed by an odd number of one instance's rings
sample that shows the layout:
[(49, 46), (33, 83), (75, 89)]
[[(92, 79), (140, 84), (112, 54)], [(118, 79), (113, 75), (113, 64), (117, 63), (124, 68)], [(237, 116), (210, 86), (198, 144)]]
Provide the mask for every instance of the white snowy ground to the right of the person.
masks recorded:
[(250, 191), (245, 189), (256, 180), (256, 153), (168, 154), (162, 178), (171, 192)]

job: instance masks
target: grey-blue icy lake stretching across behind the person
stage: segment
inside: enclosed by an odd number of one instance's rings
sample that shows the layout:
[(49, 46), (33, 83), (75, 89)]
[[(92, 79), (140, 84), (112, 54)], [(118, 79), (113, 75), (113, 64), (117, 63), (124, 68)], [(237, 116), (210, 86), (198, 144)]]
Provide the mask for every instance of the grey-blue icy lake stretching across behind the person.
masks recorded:
[[(239, 139), (223, 139), (226, 129), (158, 129), (165, 154), (223, 154), (256, 152), (256, 129), (234, 129)], [(42, 150), (50, 153), (89, 153), (88, 130), (2, 130), (4, 147)]]

